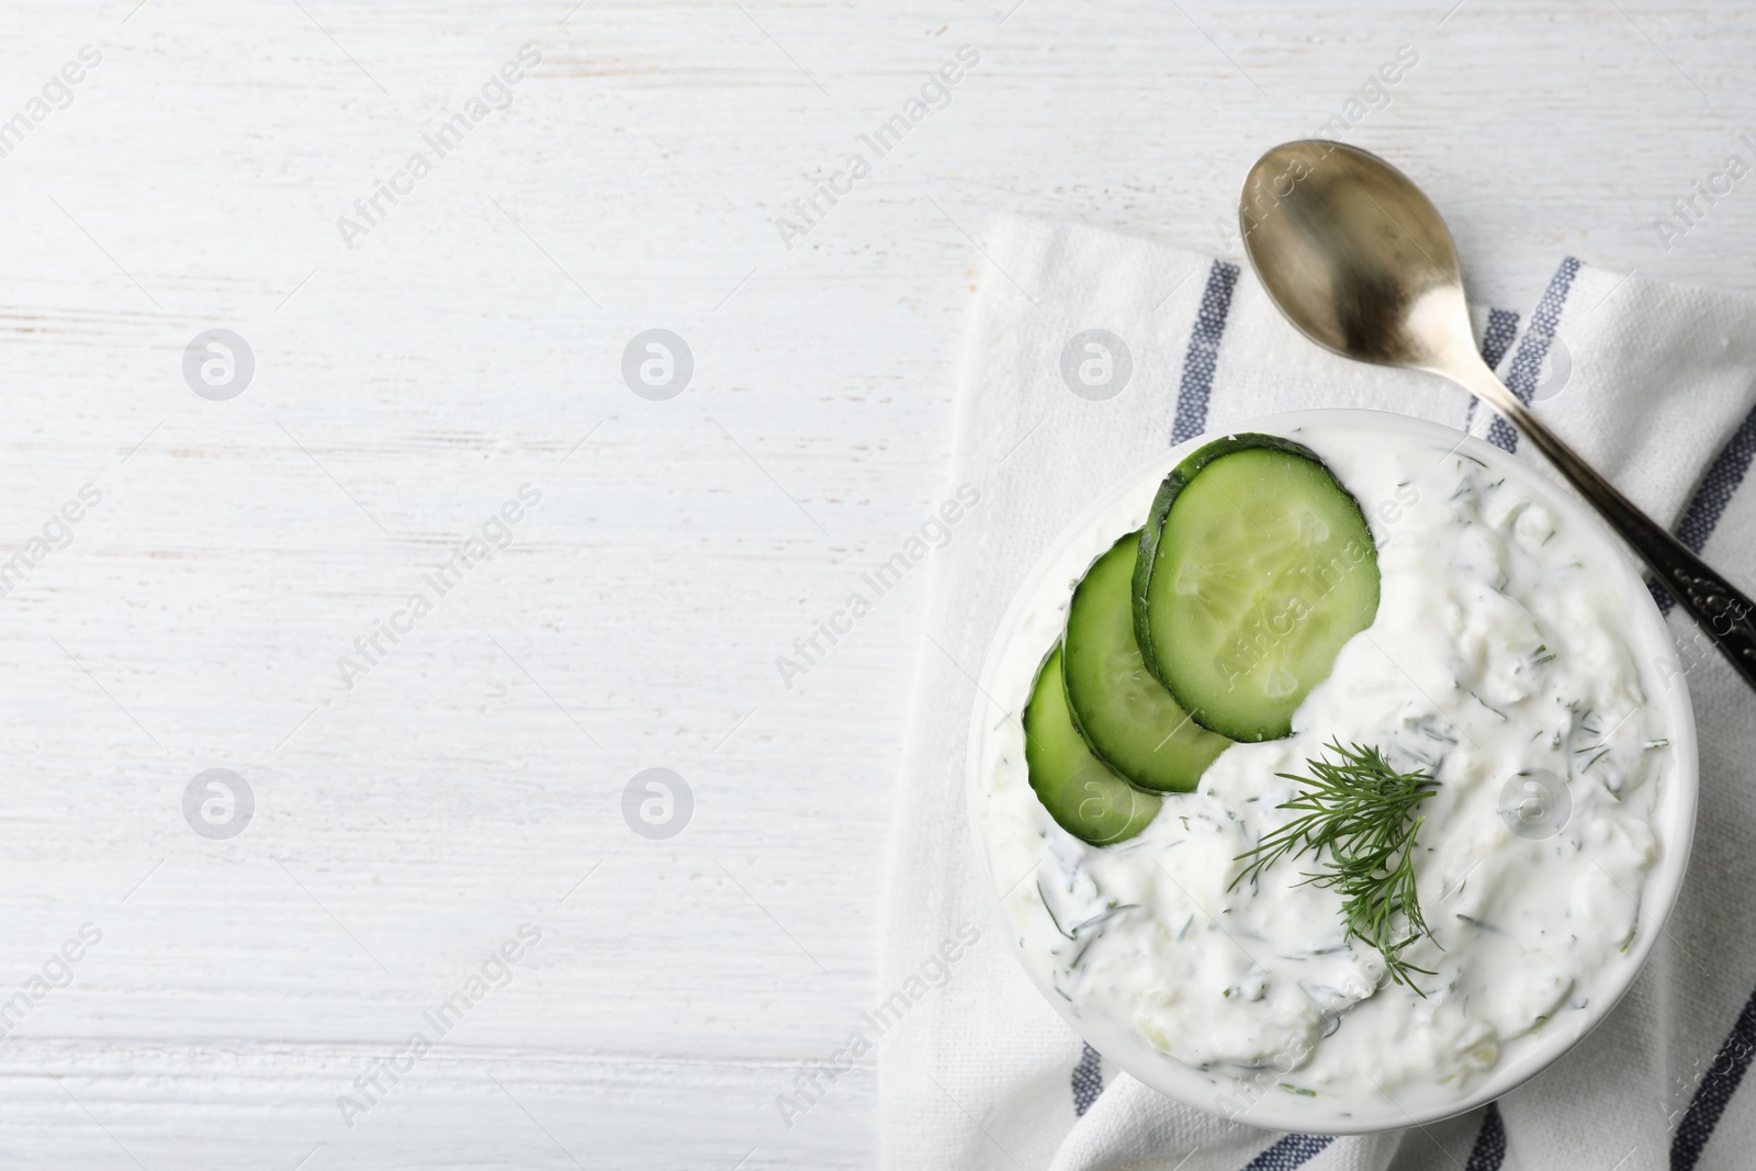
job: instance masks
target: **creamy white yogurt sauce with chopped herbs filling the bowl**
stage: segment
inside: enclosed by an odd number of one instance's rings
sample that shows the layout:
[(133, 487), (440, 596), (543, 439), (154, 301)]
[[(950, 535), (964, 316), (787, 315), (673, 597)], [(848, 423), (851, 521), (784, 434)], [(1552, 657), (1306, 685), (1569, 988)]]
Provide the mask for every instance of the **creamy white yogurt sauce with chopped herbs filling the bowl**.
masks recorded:
[[(989, 737), (978, 820), (997, 874), (1034, 871), (1008, 915), (1076, 1015), (1220, 1078), (1263, 1083), (1266, 1069), (1270, 1085), (1329, 1103), (1459, 1097), (1631, 964), (1656, 802), (1675, 771), (1665, 713), (1647, 702), (1656, 681), (1624, 636), (1647, 602), (1600, 546), (1472, 456), (1382, 430), (1291, 435), (1361, 502), (1382, 574), (1377, 620), (1342, 648), (1292, 736), (1226, 750), (1138, 837), (1096, 848), (1036, 802), (1010, 722)], [(1092, 555), (1143, 518), (1143, 495), (1120, 499), (1092, 525)], [(1001, 662), (1015, 709), (1061, 632), (1068, 585), (1043, 583)], [(1415, 853), (1433, 939), (1403, 955), (1435, 973), (1415, 976), (1424, 997), (1345, 938), (1338, 894), (1299, 885), (1310, 855), (1282, 858), (1254, 892), (1229, 888), (1236, 855), (1296, 816), (1277, 806), (1298, 783), (1277, 774), (1308, 774), (1331, 739), (1440, 781)], [(1572, 808), (1552, 836), (1559, 809), (1545, 818), (1515, 779), (1531, 769), (1566, 778)]]

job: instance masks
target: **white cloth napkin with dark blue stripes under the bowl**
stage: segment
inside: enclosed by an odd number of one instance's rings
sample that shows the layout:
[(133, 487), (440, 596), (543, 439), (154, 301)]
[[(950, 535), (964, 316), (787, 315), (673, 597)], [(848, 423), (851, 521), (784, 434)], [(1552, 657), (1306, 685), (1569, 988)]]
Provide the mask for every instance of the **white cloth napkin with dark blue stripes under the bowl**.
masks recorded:
[[(874, 1038), (883, 1166), (1752, 1166), (1756, 1087), (1737, 1090), (1756, 1053), (1756, 693), (1700, 648), (1680, 609), (1668, 621), (1684, 662), (1698, 664), (1688, 681), (1702, 741), (1689, 878), (1623, 1004), (1526, 1087), (1417, 1131), (1282, 1136), (1157, 1096), (1041, 1001), (1011, 955), (971, 836), (964, 753), (989, 641), (1050, 541), (1173, 441), (1257, 414), (1377, 407), (1468, 421), (1501, 446), (1517, 437), (1438, 379), (1321, 351), (1236, 265), (1020, 218), (994, 228), (987, 255), (952, 472), (954, 488), (969, 485), (980, 502), (936, 555), (896, 808), (878, 994), (889, 1013)], [(1756, 592), (1756, 492), (1738, 490), (1756, 451), (1756, 302), (1570, 258), (1535, 305), (1477, 318), (1489, 362), (1554, 430)], [(1068, 341), (1096, 328), (1122, 339), (1131, 358), (1110, 399), (1073, 393), (1062, 376)], [(1113, 356), (1112, 386), (1122, 365)]]

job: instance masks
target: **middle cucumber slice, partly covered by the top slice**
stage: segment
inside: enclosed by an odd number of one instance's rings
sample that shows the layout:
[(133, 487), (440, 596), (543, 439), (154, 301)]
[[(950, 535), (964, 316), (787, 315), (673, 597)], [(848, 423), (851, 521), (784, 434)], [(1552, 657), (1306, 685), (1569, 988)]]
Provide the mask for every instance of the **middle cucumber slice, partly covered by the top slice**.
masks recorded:
[(1187, 794), (1231, 741), (1196, 723), (1147, 671), (1131, 602), (1138, 553), (1131, 532), (1073, 588), (1061, 662), (1068, 709), (1090, 753), (1136, 788)]

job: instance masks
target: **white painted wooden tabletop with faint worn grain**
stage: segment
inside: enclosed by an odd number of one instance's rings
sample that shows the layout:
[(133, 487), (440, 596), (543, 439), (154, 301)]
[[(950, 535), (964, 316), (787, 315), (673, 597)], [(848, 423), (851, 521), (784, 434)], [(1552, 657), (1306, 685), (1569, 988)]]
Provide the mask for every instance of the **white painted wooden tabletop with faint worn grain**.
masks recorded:
[[(1566, 253), (1756, 290), (1756, 177), (1654, 228), (1756, 163), (1730, 4), (571, 4), (0, 9), (5, 1166), (871, 1166), (869, 1069), (774, 1097), (876, 992), (925, 574), (774, 660), (945, 493), (996, 211), (1219, 251), (1256, 154), (1408, 46), (1345, 137), (1479, 300)], [(230, 399), (183, 374), (212, 328)], [(667, 400), (623, 383), (648, 328)], [(651, 767), (667, 839), (623, 818)], [(207, 769), (232, 837), (184, 818)]]

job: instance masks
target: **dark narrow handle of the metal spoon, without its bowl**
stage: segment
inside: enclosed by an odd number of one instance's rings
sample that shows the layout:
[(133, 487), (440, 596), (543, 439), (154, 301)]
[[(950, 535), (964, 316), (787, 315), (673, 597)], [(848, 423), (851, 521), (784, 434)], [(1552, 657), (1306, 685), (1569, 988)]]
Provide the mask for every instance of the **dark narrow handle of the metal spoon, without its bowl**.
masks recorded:
[[(1647, 564), (1670, 595), (1682, 602), (1702, 630), (1719, 644), (1744, 681), (1756, 688), (1756, 602), (1733, 588), (1689, 546), (1642, 513), (1633, 500), (1579, 458), (1486, 365), (1466, 372), (1445, 370), (1443, 374), (1463, 383), (1465, 388), (1508, 418), (1549, 456), (1549, 462), (1566, 476), (1568, 483), (1579, 488), (1579, 493), (1598, 509), (1610, 528)], [(1684, 674), (1693, 671), (1700, 660), (1700, 655), (1684, 653)]]

